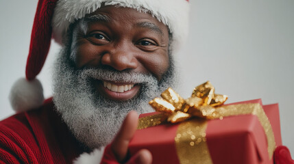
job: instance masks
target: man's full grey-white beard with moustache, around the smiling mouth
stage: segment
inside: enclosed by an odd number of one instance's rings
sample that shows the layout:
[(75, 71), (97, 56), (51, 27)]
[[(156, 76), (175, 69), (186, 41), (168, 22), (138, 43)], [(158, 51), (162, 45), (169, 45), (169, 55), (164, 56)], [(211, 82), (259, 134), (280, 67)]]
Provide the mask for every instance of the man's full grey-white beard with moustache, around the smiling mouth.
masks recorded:
[[(56, 61), (53, 102), (73, 135), (88, 148), (99, 148), (110, 143), (129, 111), (154, 111), (148, 104), (149, 100), (175, 84), (171, 59), (169, 70), (158, 81), (151, 74), (132, 71), (119, 72), (104, 68), (77, 70), (68, 52), (69, 46), (64, 46)], [(140, 83), (141, 89), (138, 96), (131, 100), (109, 100), (94, 89), (90, 82), (92, 79)]]

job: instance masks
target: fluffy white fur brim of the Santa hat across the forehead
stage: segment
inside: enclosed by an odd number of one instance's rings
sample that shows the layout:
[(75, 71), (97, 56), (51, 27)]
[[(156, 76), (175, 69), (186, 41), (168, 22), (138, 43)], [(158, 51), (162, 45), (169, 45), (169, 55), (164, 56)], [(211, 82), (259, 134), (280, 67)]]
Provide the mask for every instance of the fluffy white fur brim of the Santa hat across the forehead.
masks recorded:
[(151, 12), (169, 27), (173, 34), (172, 49), (176, 50), (188, 35), (189, 4), (186, 0), (59, 0), (53, 14), (53, 38), (62, 44), (62, 36), (69, 25), (86, 14), (95, 12), (105, 5), (134, 8), (139, 12)]

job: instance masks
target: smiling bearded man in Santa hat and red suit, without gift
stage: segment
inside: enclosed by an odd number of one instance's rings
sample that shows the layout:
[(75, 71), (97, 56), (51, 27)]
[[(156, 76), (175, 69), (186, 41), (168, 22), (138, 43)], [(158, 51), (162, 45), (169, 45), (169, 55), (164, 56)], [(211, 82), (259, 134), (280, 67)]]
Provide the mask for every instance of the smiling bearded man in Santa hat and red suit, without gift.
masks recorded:
[[(127, 154), (135, 111), (150, 112), (147, 102), (174, 85), (172, 53), (186, 36), (187, 13), (186, 0), (39, 1), (27, 80), (10, 96), (19, 113), (0, 123), (0, 162), (83, 163), (87, 155), (77, 157), (92, 152), (86, 160), (95, 163), (101, 156), (104, 163), (151, 163), (147, 150)], [(35, 77), (51, 31), (62, 50), (53, 99), (42, 102)]]

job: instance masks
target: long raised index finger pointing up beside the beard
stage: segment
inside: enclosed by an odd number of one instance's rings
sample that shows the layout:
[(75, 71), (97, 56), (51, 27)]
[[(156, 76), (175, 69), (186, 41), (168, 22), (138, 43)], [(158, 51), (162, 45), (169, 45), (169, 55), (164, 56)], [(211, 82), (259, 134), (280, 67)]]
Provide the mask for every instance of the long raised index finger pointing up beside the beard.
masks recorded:
[(127, 156), (127, 147), (138, 126), (138, 114), (136, 111), (130, 111), (125, 117), (121, 129), (112, 141), (112, 151), (117, 157), (117, 161), (123, 162)]

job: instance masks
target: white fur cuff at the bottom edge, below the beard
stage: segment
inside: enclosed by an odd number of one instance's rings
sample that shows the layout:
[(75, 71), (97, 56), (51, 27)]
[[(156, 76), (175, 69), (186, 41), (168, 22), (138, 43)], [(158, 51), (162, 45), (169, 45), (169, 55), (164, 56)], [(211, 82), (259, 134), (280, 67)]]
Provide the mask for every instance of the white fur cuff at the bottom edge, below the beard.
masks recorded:
[(98, 164), (102, 160), (104, 149), (105, 147), (95, 149), (90, 154), (84, 152), (83, 154), (79, 155), (75, 161), (73, 161), (73, 164)]

